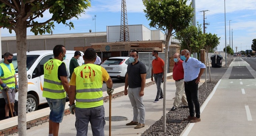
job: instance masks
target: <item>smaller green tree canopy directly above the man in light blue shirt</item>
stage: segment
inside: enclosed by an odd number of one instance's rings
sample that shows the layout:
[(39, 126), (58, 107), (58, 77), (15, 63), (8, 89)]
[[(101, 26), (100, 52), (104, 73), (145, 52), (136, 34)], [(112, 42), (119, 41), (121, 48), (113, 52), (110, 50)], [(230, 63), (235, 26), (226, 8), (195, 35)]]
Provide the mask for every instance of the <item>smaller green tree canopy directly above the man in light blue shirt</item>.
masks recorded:
[(202, 32), (201, 24), (197, 25), (198, 27), (193, 26), (191, 22), (190, 26), (176, 33), (175, 38), (180, 40), (181, 49), (188, 49), (192, 53), (199, 52), (204, 48), (205, 35)]

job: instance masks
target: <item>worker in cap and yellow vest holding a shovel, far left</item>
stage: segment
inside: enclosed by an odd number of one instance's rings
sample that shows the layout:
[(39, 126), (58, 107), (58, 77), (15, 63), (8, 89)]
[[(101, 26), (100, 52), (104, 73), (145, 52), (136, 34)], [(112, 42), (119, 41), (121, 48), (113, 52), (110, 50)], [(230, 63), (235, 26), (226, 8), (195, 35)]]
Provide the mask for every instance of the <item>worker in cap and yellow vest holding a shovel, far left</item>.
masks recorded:
[(6, 52), (4, 62), (0, 64), (0, 88), (5, 100), (5, 118), (9, 117), (11, 111), (12, 117), (17, 116), (14, 111), (15, 92), (18, 92), (18, 85), (15, 76), (14, 66), (12, 64), (13, 54)]

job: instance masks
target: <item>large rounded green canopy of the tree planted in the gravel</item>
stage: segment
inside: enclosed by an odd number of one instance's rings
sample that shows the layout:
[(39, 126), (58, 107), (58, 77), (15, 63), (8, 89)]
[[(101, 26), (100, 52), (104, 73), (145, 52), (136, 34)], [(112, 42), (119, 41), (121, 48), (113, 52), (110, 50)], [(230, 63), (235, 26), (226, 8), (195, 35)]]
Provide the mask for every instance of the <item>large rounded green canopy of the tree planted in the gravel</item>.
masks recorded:
[[(187, 0), (144, 0), (146, 18), (150, 27), (163, 30), (167, 44), (170, 37), (186, 28), (192, 20), (193, 8)], [(169, 46), (169, 45), (168, 45)]]

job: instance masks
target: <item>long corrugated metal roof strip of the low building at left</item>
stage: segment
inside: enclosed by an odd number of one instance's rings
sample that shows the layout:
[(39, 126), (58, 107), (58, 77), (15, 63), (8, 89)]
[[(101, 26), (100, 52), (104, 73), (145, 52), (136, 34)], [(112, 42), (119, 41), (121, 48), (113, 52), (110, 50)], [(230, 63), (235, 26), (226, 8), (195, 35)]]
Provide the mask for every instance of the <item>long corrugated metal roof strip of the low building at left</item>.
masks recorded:
[[(107, 32), (96, 32), (96, 36), (106, 36)], [(74, 33), (74, 34), (45, 34), (45, 35), (37, 35), (37, 36), (27, 36), (27, 40), (29, 39), (50, 39), (50, 38), (74, 38), (74, 37), (94, 37), (95, 32), (88, 33)], [(2, 41), (6, 40), (16, 40), (16, 36), (9, 37), (1, 37)]]

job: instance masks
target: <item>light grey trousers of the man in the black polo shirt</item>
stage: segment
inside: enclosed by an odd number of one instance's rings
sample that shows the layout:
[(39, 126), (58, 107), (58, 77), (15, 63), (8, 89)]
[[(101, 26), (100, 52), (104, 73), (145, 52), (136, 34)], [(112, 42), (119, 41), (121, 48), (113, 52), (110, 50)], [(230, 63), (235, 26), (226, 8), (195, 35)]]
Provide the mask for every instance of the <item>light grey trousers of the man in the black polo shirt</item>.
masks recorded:
[(128, 96), (133, 107), (133, 120), (140, 124), (145, 124), (145, 107), (142, 103), (143, 96), (140, 97), (140, 87), (128, 88)]

